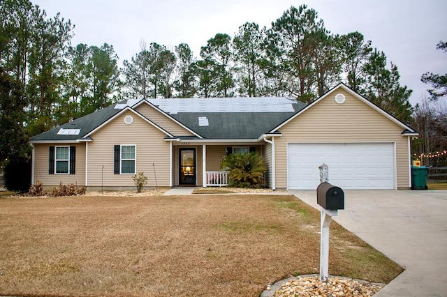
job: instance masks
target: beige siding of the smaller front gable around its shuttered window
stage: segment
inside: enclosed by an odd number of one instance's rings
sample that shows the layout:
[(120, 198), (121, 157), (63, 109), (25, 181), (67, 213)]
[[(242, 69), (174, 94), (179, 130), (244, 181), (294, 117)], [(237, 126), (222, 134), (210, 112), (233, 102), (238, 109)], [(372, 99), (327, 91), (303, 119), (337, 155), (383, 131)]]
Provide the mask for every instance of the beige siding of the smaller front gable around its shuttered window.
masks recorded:
[[(132, 116), (133, 123), (124, 123), (125, 116)], [(88, 186), (132, 187), (133, 174), (114, 174), (114, 146), (136, 146), (136, 172), (148, 177), (147, 186), (168, 187), (170, 176), (170, 143), (164, 141), (166, 134), (133, 112), (127, 111), (91, 135), (88, 145)], [(154, 174), (155, 167), (155, 174)], [(155, 182), (156, 175), (156, 182)]]

